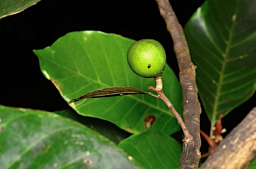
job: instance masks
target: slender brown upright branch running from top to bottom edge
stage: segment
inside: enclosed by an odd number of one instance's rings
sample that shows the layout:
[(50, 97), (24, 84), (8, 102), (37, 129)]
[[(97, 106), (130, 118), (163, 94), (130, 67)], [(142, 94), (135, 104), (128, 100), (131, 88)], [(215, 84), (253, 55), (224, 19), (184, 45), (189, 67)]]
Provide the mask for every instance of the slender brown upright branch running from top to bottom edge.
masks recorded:
[(183, 28), (168, 0), (156, 0), (159, 11), (165, 19), (167, 29), (173, 38), (174, 50), (179, 63), (179, 79), (183, 90), (183, 117), (189, 133), (193, 136), (190, 142), (183, 142), (181, 154), (181, 168), (198, 168), (201, 156), (200, 147), (200, 114), (201, 107), (198, 100), (198, 90), (195, 83), (195, 66), (191, 62), (189, 47), (187, 46)]

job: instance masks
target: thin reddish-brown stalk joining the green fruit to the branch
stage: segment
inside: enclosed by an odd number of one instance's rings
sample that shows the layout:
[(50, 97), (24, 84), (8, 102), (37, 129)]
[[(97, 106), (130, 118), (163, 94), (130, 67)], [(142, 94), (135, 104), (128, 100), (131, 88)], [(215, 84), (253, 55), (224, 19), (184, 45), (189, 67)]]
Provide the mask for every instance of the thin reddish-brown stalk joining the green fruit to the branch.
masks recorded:
[(173, 114), (173, 116), (175, 116), (179, 125), (181, 126), (181, 129), (183, 130), (183, 133), (185, 136), (184, 141), (189, 142), (189, 141), (193, 140), (193, 137), (189, 133), (189, 130), (187, 130), (187, 126), (185, 126), (185, 123), (183, 122), (181, 115), (179, 115), (177, 110), (174, 108), (173, 104), (171, 104), (171, 101), (169, 100), (169, 98), (167, 98), (167, 96), (165, 96), (165, 93), (163, 92), (163, 83), (162, 83), (161, 77), (155, 78), (155, 81), (157, 83), (156, 87), (149, 86), (148, 87), (149, 90), (153, 90), (153, 91), (157, 92), (159, 98), (161, 98), (161, 100), (163, 100), (163, 102), (165, 102), (165, 104), (171, 110), (171, 113)]

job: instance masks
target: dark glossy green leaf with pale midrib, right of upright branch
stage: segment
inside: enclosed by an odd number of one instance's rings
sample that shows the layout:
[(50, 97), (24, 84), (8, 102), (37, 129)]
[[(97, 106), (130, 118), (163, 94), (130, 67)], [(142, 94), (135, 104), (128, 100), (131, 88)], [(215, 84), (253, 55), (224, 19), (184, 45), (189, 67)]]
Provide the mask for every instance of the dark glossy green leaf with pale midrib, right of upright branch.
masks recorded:
[(256, 89), (256, 1), (206, 1), (185, 26), (197, 85), (211, 123)]

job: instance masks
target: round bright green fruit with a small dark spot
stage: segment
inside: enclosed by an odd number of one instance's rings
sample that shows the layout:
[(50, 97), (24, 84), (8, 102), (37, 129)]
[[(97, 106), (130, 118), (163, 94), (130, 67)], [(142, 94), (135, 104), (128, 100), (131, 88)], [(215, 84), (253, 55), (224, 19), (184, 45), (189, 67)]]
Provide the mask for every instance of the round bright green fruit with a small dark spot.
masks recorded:
[(165, 49), (153, 39), (143, 39), (131, 45), (127, 61), (131, 70), (141, 77), (160, 77), (165, 69)]

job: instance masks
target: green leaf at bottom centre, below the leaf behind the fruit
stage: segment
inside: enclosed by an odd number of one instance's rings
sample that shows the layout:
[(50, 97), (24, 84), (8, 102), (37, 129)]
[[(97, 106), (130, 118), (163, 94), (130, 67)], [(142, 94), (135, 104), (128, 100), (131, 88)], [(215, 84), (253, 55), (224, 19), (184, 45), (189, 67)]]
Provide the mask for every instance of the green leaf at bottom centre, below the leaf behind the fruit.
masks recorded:
[(144, 168), (179, 168), (182, 146), (163, 132), (147, 130), (121, 141), (119, 147)]

